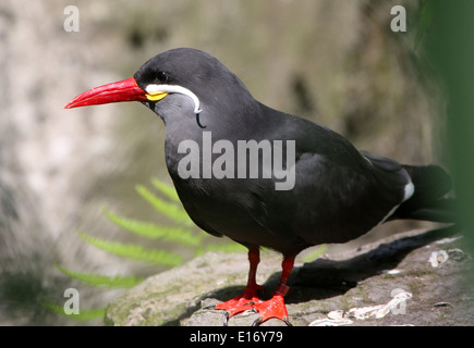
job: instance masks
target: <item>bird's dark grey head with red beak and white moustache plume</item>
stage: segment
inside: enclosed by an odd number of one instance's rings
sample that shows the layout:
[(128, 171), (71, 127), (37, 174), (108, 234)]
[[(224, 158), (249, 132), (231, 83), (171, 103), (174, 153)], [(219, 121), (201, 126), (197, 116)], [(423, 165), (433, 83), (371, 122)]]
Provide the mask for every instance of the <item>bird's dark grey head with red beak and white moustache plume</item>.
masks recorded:
[[(205, 117), (229, 112), (229, 107), (253, 100), (242, 82), (216, 58), (179, 48), (147, 61), (133, 77), (89, 89), (64, 109), (120, 101), (141, 101), (165, 122), (177, 117)], [(208, 112), (215, 109), (212, 112)], [(234, 110), (235, 111), (235, 110)]]

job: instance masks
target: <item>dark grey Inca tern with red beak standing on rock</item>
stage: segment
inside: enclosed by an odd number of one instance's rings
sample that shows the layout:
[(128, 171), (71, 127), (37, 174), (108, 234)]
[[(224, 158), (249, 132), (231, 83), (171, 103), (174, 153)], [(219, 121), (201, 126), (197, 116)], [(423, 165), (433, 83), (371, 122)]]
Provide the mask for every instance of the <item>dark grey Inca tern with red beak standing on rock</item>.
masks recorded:
[[(357, 150), (324, 125), (267, 107), (202, 50), (161, 52), (133, 77), (89, 89), (64, 109), (122, 101), (162, 119), (166, 165), (193, 222), (248, 249), (243, 293), (215, 306), (224, 324), (251, 310), (254, 325), (271, 318), (291, 325), (288, 278), (308, 247), (347, 243), (392, 220), (453, 220), (441, 166)], [(279, 285), (266, 300), (256, 282), (262, 248), (282, 254)]]

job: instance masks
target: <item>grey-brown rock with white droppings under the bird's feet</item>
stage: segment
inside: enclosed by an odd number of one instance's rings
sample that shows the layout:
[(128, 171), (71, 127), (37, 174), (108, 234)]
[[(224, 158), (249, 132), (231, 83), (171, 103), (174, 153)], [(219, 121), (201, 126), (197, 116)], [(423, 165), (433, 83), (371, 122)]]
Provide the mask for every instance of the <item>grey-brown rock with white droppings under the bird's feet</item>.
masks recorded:
[[(296, 262), (287, 307), (293, 325), (473, 325), (472, 270), (462, 237), (452, 228), (412, 231), (342, 256)], [(437, 262), (433, 262), (433, 260)], [(296, 260), (297, 261), (297, 260)], [(281, 256), (264, 252), (257, 281), (268, 298)], [(106, 325), (222, 325), (223, 312), (206, 309), (240, 294), (245, 253), (209, 252), (147, 278), (107, 309)], [(472, 285), (472, 284), (471, 284)], [(241, 314), (229, 325), (252, 325)], [(269, 320), (264, 325), (283, 325)]]

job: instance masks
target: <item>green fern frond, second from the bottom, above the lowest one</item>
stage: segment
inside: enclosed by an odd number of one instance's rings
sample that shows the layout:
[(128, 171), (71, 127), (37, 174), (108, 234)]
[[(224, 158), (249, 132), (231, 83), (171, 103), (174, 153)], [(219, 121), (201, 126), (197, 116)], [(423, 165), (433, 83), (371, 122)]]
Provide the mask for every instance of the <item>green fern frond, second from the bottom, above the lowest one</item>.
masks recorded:
[(135, 285), (138, 285), (144, 279), (142, 277), (137, 278), (135, 276), (121, 276), (121, 275), (108, 276), (101, 274), (80, 273), (80, 272), (66, 270), (60, 266), (59, 264), (54, 264), (54, 265), (59, 271), (61, 271), (65, 275), (95, 287), (131, 288), (134, 287)]

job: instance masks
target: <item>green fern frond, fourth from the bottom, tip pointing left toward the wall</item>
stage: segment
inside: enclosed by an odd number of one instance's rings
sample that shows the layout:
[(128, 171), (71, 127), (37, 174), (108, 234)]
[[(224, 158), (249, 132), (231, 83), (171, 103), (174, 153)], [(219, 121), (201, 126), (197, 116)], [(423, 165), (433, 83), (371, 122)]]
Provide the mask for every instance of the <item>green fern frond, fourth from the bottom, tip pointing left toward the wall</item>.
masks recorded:
[(183, 229), (181, 227), (159, 226), (153, 223), (125, 219), (112, 213), (107, 209), (102, 209), (102, 213), (116, 225), (149, 239), (162, 238), (163, 240), (174, 241), (192, 247), (198, 246), (203, 239), (202, 236), (196, 236), (192, 231)]

